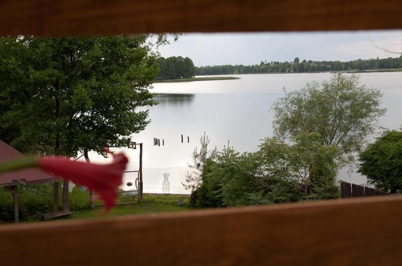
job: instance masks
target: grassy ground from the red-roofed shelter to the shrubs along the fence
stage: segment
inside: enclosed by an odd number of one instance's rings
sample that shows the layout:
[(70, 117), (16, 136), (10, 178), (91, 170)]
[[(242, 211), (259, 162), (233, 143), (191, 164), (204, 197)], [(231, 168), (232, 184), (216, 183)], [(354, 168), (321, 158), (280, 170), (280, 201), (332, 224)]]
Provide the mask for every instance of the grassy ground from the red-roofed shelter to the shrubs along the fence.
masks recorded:
[[(20, 204), (20, 221), (33, 222), (42, 221), (42, 215), (46, 212), (52, 212), (52, 193), (53, 184), (42, 184), (34, 186), (18, 186)], [(60, 187), (61, 191), (61, 187)], [(189, 198), (187, 195), (168, 195), (163, 194), (144, 194), (143, 200), (138, 203), (137, 197), (121, 195), (118, 198), (118, 204), (134, 203), (130, 205), (118, 205), (112, 211), (105, 215), (102, 201), (95, 201), (95, 208), (89, 208), (89, 192), (80, 191), (75, 187), (71, 193), (70, 209), (72, 215), (64, 219), (75, 218), (99, 218), (110, 216), (127, 216), (141, 214), (155, 214), (157, 212), (171, 212), (188, 210)], [(184, 200), (182, 206), (177, 205), (179, 199)], [(98, 206), (98, 207), (97, 207)], [(59, 195), (59, 209), (62, 208), (61, 193)], [(61, 218), (62, 219), (62, 218)], [(10, 191), (0, 187), (0, 224), (14, 222), (14, 201)]]

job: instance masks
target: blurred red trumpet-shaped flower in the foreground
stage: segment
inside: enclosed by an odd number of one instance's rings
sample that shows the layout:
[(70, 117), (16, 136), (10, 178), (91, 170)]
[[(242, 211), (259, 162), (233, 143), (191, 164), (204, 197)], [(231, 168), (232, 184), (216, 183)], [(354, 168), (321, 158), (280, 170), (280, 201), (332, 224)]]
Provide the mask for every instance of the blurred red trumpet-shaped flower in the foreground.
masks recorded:
[(113, 163), (108, 165), (70, 161), (63, 157), (39, 159), (39, 167), (42, 170), (98, 192), (100, 198), (105, 201), (106, 211), (116, 203), (117, 190), (122, 184), (127, 163), (128, 159), (123, 153), (114, 155)]

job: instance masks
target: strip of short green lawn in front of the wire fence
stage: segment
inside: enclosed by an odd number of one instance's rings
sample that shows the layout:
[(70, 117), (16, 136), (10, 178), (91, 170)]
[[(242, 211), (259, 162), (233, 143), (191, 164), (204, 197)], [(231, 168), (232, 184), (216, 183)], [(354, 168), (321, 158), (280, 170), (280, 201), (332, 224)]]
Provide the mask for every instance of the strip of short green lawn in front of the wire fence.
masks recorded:
[[(184, 200), (183, 206), (177, 205), (177, 201), (179, 199)], [(93, 210), (73, 210), (72, 215), (66, 219), (103, 218), (113, 216), (156, 214), (158, 212), (185, 211), (193, 209), (188, 206), (188, 200), (189, 198), (186, 196), (155, 196), (145, 194), (140, 203), (137, 203), (137, 198), (135, 198), (136, 203), (132, 205), (115, 206), (109, 212), (109, 214), (105, 214), (104, 207), (95, 207)], [(119, 202), (133, 202), (133, 199), (132, 197), (121, 196), (119, 197)]]

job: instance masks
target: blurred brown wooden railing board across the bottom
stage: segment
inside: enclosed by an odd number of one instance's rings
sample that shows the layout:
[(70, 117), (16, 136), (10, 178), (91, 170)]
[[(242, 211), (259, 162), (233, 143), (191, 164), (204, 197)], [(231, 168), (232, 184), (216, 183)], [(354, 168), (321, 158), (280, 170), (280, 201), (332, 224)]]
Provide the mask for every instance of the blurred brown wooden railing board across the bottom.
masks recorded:
[(400, 196), (362, 197), (6, 225), (0, 256), (4, 265), (392, 265), (401, 206)]

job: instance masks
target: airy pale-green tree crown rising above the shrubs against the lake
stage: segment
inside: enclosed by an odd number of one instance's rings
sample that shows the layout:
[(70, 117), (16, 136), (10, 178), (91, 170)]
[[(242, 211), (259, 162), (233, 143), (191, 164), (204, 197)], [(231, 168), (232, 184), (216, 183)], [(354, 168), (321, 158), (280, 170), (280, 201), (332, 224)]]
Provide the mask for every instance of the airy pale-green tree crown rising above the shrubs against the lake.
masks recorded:
[(386, 110), (380, 108), (378, 89), (360, 84), (359, 76), (334, 74), (321, 84), (308, 83), (286, 93), (273, 105), (274, 125), (280, 136), (292, 139), (299, 132), (317, 132), (321, 143), (336, 146), (351, 161)]

